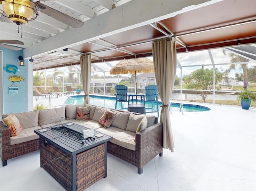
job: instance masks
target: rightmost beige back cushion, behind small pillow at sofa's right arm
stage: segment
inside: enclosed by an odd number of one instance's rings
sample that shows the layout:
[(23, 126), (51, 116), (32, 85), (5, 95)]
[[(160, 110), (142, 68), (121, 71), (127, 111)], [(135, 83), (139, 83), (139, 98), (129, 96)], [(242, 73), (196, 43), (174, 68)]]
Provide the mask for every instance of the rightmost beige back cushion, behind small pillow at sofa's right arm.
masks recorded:
[(129, 120), (127, 123), (127, 127), (125, 130), (136, 132), (138, 125), (140, 124), (141, 120), (146, 117), (148, 120), (147, 128), (154, 125), (155, 116), (151, 115), (135, 115), (133, 113), (130, 114)]

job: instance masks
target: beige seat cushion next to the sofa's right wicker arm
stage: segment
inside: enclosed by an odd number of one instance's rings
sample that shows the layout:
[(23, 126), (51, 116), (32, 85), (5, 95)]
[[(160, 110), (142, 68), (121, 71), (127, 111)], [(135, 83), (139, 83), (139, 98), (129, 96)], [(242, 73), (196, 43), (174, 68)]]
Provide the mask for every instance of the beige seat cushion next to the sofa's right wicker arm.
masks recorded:
[(110, 142), (119, 145), (121, 147), (135, 151), (134, 132), (124, 131), (113, 136)]

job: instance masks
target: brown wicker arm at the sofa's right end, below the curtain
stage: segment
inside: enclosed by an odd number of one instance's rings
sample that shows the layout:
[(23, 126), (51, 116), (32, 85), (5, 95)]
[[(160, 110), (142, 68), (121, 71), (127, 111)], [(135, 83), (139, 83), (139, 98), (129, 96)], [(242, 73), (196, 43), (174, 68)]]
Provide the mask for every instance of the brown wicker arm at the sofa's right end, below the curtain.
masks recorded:
[(154, 124), (136, 133), (136, 166), (138, 173), (143, 172), (143, 166), (155, 158), (162, 156), (163, 128), (161, 123)]

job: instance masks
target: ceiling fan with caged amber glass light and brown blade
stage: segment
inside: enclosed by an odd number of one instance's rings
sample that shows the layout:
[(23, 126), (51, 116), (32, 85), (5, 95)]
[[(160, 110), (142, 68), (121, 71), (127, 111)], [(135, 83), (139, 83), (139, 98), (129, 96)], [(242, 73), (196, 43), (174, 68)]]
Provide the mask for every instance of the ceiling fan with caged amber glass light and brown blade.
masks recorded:
[[(80, 28), (84, 25), (84, 23), (81, 22), (80, 20), (77, 20), (71, 16), (68, 16), (68, 15), (66, 15), (58, 10), (55, 10), (49, 6), (46, 6), (38, 0), (0, 0), (0, 4), (2, 4), (3, 7), (4, 7), (4, 4), (9, 4), (12, 7), (12, 6), (14, 6), (13, 3), (14, 3), (14, 5), (27, 8), (28, 11), (26, 11), (25, 13), (31, 12), (30, 18), (27, 19), (26, 15), (22, 16), (22, 18), (21, 18), (20, 16), (18, 16), (16, 14), (8, 14), (7, 12), (3, 12), (3, 13), (1, 13), (0, 22), (14, 22), (17, 25), (27, 24), (28, 20), (36, 19), (36, 17), (38, 16), (38, 12), (40, 11), (52, 18), (55, 18), (56, 20), (66, 24), (68, 26), (71, 26), (72, 28)], [(33, 14), (35, 16), (32, 18)]]

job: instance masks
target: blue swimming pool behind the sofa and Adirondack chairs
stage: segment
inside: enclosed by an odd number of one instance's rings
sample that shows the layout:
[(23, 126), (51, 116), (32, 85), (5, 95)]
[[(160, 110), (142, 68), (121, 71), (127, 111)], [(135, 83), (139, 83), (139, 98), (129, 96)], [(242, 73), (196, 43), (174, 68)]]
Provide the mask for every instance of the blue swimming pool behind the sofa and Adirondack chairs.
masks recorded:
[[(83, 104), (84, 102), (84, 95), (76, 95), (76, 96), (70, 96), (75, 99), (74, 104)], [(73, 100), (71, 98), (68, 98), (64, 104), (72, 104)], [(116, 98), (110, 97), (110, 96), (97, 96), (97, 95), (90, 95), (90, 104), (92, 105), (98, 105), (103, 106), (107, 108), (115, 108), (116, 104)], [(126, 105), (125, 105), (126, 104)], [(162, 105), (162, 102), (159, 102), (159, 107)], [(123, 106), (127, 107), (127, 103), (123, 103)], [(146, 104), (146, 107), (149, 107), (150, 105)], [(156, 105), (154, 105), (156, 109)], [(121, 103), (118, 102), (117, 109), (121, 108)], [(159, 108), (161, 110), (161, 108)], [(194, 105), (194, 104), (183, 104), (183, 111), (184, 112), (193, 112), (193, 111), (209, 111), (211, 110), (208, 107), (200, 106), (200, 105)], [(180, 111), (180, 103), (172, 103), (172, 112)]]

